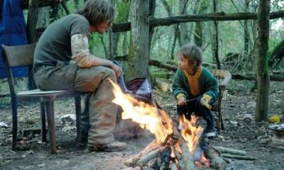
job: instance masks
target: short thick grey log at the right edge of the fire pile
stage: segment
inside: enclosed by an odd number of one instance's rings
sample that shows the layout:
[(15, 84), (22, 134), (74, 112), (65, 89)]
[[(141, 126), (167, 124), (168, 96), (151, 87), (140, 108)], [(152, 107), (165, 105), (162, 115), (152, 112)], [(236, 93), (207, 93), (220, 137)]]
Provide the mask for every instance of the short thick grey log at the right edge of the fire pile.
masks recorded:
[(207, 150), (206, 155), (208, 159), (210, 160), (210, 166), (214, 166), (219, 170), (226, 169), (226, 162), (222, 157), (220, 157), (219, 153), (212, 149), (211, 147)]

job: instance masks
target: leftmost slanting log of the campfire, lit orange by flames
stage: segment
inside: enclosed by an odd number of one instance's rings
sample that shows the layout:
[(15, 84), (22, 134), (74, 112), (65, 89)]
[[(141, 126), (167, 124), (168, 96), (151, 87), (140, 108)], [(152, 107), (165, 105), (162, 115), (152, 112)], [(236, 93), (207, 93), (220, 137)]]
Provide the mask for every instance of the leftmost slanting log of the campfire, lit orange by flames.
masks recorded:
[(160, 147), (160, 142), (158, 142), (158, 140), (153, 140), (149, 145), (147, 145), (147, 147), (145, 147), (143, 149), (143, 151), (141, 151), (139, 154), (136, 154), (135, 157), (130, 158), (128, 160), (126, 160), (126, 162), (124, 163), (126, 166), (134, 166), (136, 164), (136, 162), (138, 162), (138, 160), (143, 157), (143, 155), (148, 154), (149, 152), (158, 149), (158, 147)]

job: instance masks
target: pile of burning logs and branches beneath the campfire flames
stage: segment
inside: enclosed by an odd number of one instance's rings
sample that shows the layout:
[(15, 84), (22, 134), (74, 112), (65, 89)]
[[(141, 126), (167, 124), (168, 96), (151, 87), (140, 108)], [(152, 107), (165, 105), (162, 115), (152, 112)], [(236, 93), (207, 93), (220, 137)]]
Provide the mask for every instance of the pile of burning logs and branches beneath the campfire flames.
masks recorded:
[[(195, 153), (192, 154), (177, 125), (175, 125), (173, 131), (173, 134), (168, 135), (165, 141), (153, 140), (140, 153), (128, 159), (125, 163), (126, 166), (139, 166), (141, 169), (143, 167), (148, 169), (195, 169), (195, 162), (200, 161), (202, 156), (202, 150), (200, 152), (201, 147), (199, 146), (202, 137), (197, 141)], [(208, 147), (205, 154), (211, 166), (217, 169), (226, 169), (227, 163), (215, 149)]]

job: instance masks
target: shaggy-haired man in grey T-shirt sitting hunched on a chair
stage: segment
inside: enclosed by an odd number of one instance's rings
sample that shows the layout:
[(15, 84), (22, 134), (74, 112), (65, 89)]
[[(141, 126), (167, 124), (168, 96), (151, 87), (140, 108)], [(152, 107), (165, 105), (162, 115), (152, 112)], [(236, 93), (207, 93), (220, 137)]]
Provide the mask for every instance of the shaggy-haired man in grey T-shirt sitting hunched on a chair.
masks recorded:
[(117, 106), (111, 102), (114, 94), (109, 81), (116, 82), (121, 69), (90, 54), (88, 43), (90, 33), (104, 33), (113, 19), (114, 6), (108, 1), (88, 0), (76, 14), (51, 23), (35, 47), (35, 82), (39, 89), (74, 89), (91, 94), (89, 119), (82, 119), (83, 125), (89, 125), (91, 151), (113, 152), (126, 147), (124, 142), (114, 140)]

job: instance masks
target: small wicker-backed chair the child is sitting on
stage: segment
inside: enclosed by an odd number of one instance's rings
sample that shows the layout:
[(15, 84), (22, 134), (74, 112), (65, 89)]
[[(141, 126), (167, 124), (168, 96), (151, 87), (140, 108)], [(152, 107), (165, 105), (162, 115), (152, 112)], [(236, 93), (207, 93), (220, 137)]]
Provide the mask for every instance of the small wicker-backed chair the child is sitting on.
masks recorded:
[(209, 69), (209, 70), (213, 74), (213, 76), (216, 77), (219, 83), (218, 100), (212, 104), (212, 111), (214, 111), (217, 115), (217, 130), (218, 133), (220, 134), (220, 130), (221, 129), (224, 130), (224, 123), (221, 112), (222, 98), (223, 98), (223, 93), (226, 89), (226, 85), (229, 83), (229, 80), (231, 79), (231, 74), (230, 72), (224, 69)]

